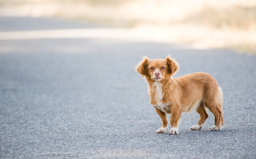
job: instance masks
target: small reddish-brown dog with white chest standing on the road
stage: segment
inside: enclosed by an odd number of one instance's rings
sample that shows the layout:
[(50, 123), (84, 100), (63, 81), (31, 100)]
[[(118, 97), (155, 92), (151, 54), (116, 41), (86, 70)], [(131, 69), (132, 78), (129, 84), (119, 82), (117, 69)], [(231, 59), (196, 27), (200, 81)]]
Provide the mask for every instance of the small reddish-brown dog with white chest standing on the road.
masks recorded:
[(171, 114), (169, 134), (179, 134), (178, 122), (182, 112), (196, 110), (199, 113), (197, 125), (192, 131), (199, 131), (208, 117), (206, 107), (215, 116), (215, 125), (211, 131), (219, 131), (223, 125), (223, 92), (216, 79), (204, 72), (197, 72), (172, 78), (178, 72), (179, 64), (174, 58), (150, 60), (147, 57), (136, 66), (135, 70), (148, 81), (150, 103), (162, 119), (162, 128), (156, 133), (168, 131), (166, 113)]

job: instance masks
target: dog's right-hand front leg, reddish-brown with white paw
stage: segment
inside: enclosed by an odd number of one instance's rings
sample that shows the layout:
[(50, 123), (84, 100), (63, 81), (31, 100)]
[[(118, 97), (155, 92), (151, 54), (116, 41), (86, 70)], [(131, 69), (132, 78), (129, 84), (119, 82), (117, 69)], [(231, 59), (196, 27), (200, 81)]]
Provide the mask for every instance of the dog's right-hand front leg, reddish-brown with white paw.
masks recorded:
[(180, 110), (180, 108), (172, 109), (171, 117), (170, 117), (171, 131), (169, 132), (169, 134), (179, 134), (178, 123), (180, 121), (181, 114), (182, 114), (182, 111)]

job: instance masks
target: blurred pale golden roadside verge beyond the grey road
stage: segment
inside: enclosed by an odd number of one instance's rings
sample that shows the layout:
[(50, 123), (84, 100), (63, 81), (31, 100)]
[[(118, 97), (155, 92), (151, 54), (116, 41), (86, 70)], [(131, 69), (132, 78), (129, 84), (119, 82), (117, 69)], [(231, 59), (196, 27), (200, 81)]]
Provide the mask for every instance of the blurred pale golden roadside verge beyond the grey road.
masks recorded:
[(157, 42), (256, 54), (255, 0), (0, 0), (0, 15), (84, 21)]

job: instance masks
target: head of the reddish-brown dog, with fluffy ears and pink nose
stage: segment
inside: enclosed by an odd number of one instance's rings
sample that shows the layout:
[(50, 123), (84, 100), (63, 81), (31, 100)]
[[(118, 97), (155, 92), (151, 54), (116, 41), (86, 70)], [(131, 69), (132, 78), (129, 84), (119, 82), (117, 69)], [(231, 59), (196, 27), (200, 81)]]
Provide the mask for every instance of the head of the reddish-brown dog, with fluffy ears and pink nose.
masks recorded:
[(136, 71), (149, 81), (169, 80), (179, 68), (176, 60), (167, 56), (166, 59), (150, 60), (147, 57), (136, 66)]

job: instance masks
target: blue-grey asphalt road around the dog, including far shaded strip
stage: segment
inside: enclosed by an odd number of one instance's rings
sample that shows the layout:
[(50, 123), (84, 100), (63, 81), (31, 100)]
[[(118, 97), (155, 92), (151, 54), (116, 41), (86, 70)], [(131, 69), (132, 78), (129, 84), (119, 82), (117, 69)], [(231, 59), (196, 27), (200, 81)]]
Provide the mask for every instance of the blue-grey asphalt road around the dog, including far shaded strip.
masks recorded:
[[(54, 19), (0, 17), (0, 32), (88, 28)], [(143, 55), (207, 72), (223, 89), (225, 127), (155, 134), (160, 117), (134, 72)], [(0, 40), (0, 158), (256, 158), (256, 56), (100, 38)], [(168, 116), (169, 118), (170, 116)]]

